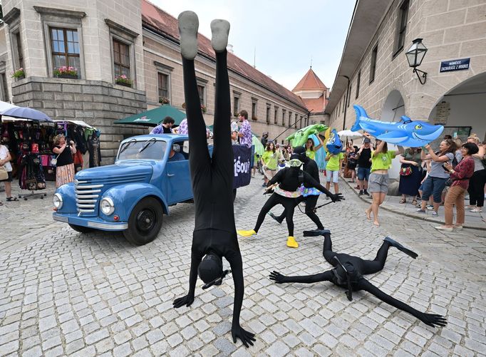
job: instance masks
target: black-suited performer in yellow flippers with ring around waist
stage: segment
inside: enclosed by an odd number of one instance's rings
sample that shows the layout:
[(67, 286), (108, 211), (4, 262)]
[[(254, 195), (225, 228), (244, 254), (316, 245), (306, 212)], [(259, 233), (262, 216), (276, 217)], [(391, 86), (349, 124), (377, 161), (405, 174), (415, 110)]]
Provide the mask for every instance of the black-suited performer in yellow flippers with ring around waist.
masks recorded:
[[(294, 157), (294, 156), (293, 156)], [(276, 205), (282, 205), (285, 209), (285, 218), (287, 222), (287, 229), (289, 229), (289, 237), (287, 238), (287, 247), (297, 248), (299, 244), (294, 238), (294, 209), (299, 203), (297, 200), (301, 196), (299, 187), (304, 184), (306, 187), (316, 187), (317, 190), (323, 192), (331, 198), (333, 202), (338, 202), (343, 199), (341, 194), (333, 195), (331, 192), (326, 190), (326, 187), (322, 186), (319, 182), (314, 180), (311, 175), (300, 169), (302, 162), (298, 159), (292, 159), (289, 161), (290, 167), (284, 168), (276, 173), (276, 175), (267, 184), (267, 187), (271, 187), (278, 183), (274, 187), (274, 193), (265, 202), (260, 211), (257, 219), (257, 224), (255, 224), (254, 229), (249, 231), (239, 230), (237, 233), (243, 237), (251, 237), (257, 234), (260, 226), (262, 225), (265, 215), (270, 209)]]

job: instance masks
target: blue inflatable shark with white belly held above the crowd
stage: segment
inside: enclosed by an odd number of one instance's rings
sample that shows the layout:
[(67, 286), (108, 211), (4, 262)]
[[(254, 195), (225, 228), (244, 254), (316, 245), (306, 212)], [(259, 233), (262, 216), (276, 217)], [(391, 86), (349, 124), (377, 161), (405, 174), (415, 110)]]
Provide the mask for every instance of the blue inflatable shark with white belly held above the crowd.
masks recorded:
[(419, 148), (437, 139), (444, 130), (443, 125), (413, 121), (405, 115), (398, 123), (374, 120), (368, 117), (366, 110), (360, 105), (353, 105), (353, 107), (356, 111), (356, 123), (351, 130), (363, 129), (386, 143)]

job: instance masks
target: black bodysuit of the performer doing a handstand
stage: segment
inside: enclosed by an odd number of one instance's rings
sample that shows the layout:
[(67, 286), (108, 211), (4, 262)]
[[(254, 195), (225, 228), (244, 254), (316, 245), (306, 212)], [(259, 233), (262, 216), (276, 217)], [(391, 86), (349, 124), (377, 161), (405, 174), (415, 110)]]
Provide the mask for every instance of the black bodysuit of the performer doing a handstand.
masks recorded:
[[(229, 135), (231, 106), (227, 52), (216, 53), (216, 99), (214, 109), (214, 149), (207, 149), (206, 126), (202, 118), (194, 61), (182, 58), (187, 126), (190, 133), (189, 164), (195, 203), (195, 229), (192, 236), (189, 292), (175, 301), (187, 306), (194, 301), (197, 268), (205, 254), (225, 257), (232, 269), (234, 306), (232, 332), (239, 327), (244, 281), (242, 255), (239, 251), (233, 212), (233, 150)], [(246, 343), (245, 343), (246, 345)]]

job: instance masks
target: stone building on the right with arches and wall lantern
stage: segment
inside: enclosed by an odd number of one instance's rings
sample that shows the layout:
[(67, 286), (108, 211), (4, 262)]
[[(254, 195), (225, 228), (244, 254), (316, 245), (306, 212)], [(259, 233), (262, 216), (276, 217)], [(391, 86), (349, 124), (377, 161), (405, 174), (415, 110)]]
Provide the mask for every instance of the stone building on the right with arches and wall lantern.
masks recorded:
[[(425, 84), (405, 57), (415, 38), (428, 48), (418, 67)], [(440, 71), (442, 62), (465, 58), (469, 68)], [(408, 115), (443, 124), (451, 135), (483, 138), (485, 83), (485, 1), (358, 0), (326, 113), (338, 130), (351, 128), (356, 103), (371, 118)]]

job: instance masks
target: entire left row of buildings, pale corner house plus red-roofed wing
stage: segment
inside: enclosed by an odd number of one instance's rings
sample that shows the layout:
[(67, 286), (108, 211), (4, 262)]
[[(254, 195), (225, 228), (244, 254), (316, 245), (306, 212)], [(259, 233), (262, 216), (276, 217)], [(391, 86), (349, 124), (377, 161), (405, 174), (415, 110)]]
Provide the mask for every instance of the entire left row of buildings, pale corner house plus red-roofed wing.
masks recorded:
[[(103, 164), (113, 162), (120, 140), (148, 131), (113, 125), (113, 120), (155, 108), (162, 97), (184, 110), (177, 20), (148, 1), (7, 0), (2, 5), (1, 99), (99, 128)], [(55, 70), (63, 65), (75, 67), (76, 78), (58, 78)], [(246, 109), (254, 133), (267, 131), (279, 143), (291, 130), (308, 125), (298, 95), (233, 53), (228, 66), (232, 120)], [(12, 78), (19, 68), (25, 78)], [(210, 40), (201, 35), (196, 71), (211, 125), (215, 60)], [(133, 82), (130, 88), (117, 83), (120, 74)]]

